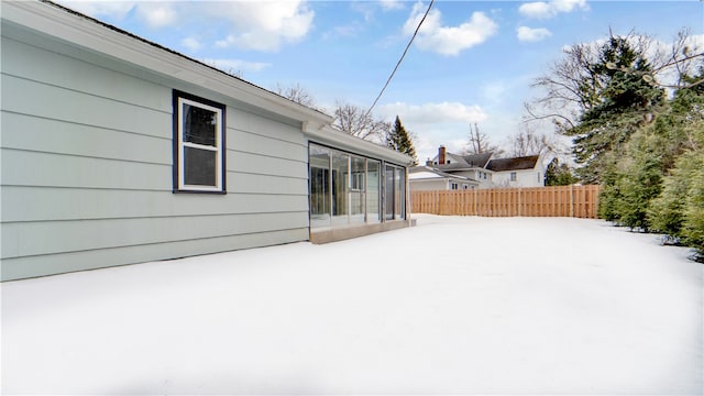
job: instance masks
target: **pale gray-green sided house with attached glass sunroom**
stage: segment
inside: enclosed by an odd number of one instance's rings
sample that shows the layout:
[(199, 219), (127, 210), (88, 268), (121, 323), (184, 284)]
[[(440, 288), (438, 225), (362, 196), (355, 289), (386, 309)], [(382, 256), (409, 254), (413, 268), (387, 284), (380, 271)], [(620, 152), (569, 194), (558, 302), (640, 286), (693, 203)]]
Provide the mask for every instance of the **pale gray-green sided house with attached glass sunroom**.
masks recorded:
[(410, 157), (62, 6), (0, 7), (2, 280), (409, 226)]

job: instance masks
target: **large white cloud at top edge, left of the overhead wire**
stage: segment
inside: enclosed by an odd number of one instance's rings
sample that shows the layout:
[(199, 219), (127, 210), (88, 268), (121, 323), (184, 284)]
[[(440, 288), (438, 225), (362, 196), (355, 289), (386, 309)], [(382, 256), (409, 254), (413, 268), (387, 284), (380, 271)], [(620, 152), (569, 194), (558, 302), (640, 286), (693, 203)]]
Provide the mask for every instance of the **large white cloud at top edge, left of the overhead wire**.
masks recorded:
[(231, 33), (217, 46), (270, 52), (301, 40), (315, 16), (300, 0), (215, 2), (209, 3), (209, 12), (231, 22)]

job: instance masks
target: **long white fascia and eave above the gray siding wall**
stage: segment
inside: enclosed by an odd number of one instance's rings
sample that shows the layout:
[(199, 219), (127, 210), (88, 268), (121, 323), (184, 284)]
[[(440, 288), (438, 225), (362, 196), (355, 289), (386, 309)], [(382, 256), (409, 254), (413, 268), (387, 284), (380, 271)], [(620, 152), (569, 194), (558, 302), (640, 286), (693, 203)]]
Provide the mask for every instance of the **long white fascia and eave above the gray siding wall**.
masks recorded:
[(52, 35), (96, 53), (195, 84), (300, 122), (334, 118), (211, 68), (185, 55), (112, 30), (89, 18), (38, 1), (2, 1), (2, 20)]

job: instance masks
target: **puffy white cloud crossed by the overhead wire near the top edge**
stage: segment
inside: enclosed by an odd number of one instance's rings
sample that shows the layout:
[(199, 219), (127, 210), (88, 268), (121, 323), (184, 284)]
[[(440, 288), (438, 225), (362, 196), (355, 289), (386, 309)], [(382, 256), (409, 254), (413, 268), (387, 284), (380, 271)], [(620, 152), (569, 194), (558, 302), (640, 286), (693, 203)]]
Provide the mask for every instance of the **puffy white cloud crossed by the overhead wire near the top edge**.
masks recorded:
[[(426, 6), (418, 2), (404, 24), (404, 33), (411, 35), (426, 12)], [(474, 12), (466, 22), (458, 26), (443, 26), (438, 10), (428, 13), (418, 31), (416, 45), (420, 50), (432, 51), (441, 55), (458, 55), (461, 51), (485, 42), (496, 34), (498, 25), (483, 12)]]

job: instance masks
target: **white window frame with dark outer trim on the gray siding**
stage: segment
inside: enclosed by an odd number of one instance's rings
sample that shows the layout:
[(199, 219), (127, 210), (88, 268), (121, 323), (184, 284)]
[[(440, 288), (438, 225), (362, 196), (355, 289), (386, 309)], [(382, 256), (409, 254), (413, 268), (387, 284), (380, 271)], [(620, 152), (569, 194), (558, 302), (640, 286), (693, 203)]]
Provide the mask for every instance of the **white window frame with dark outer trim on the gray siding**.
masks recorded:
[[(219, 193), (219, 194), (224, 194), (226, 193), (226, 188), (224, 188), (224, 106), (219, 105), (219, 103), (215, 103), (211, 102), (209, 100), (206, 99), (200, 99), (200, 98), (196, 98), (193, 97), (190, 95), (187, 94), (183, 94), (183, 92), (175, 92), (174, 94), (176, 99), (176, 109), (174, 109), (174, 111), (177, 112), (177, 117), (175, 118), (176, 121), (176, 125), (174, 129), (174, 139), (177, 140), (177, 150), (178, 152), (176, 153), (177, 156), (177, 177), (175, 177), (175, 180), (177, 180), (177, 186), (175, 186), (175, 190), (176, 191), (195, 191), (195, 193)], [(212, 106), (212, 105), (208, 105), (208, 102), (211, 102), (213, 105), (219, 105), (219, 107)], [(197, 107), (200, 109), (205, 109), (208, 111), (212, 111), (216, 113), (216, 145), (211, 146), (211, 145), (204, 145), (204, 144), (197, 144), (197, 143), (191, 143), (191, 142), (185, 142), (184, 141), (184, 133), (183, 133), (183, 127), (184, 127), (184, 105), (188, 105), (188, 106), (193, 106), (193, 107)], [(186, 173), (184, 172), (184, 158), (185, 158), (185, 152), (186, 152), (186, 147), (193, 147), (193, 148), (198, 148), (198, 150), (206, 150), (206, 151), (211, 151), (216, 153), (216, 184), (215, 186), (202, 186), (202, 185), (188, 185), (186, 184)]]

